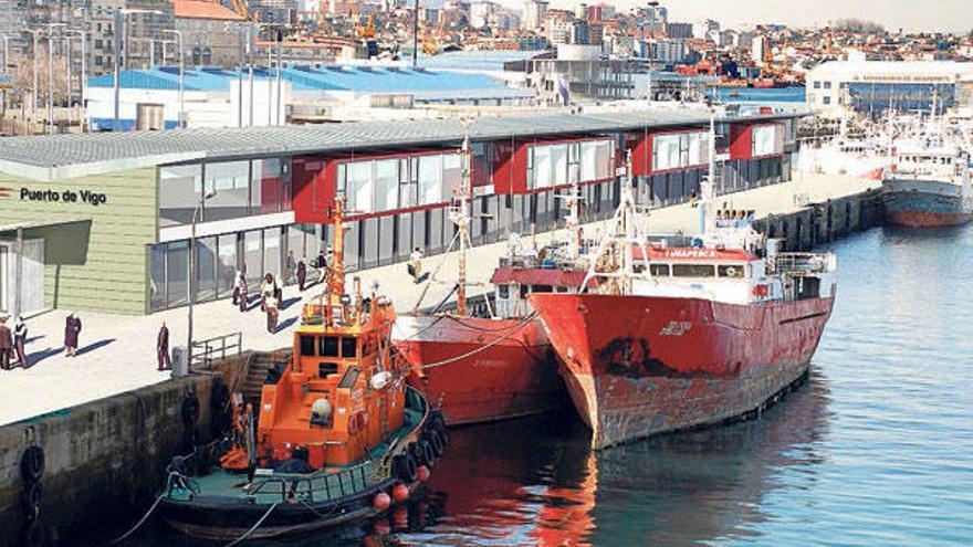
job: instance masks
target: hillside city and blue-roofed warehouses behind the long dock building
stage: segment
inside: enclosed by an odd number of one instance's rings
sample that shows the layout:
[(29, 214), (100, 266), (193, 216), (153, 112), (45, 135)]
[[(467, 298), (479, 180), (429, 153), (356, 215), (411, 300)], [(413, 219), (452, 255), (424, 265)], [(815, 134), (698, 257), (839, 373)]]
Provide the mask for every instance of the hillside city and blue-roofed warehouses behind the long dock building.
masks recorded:
[[(656, 1), (566, 10), (546, 0), (520, 9), (457, 0), (0, 0), (0, 134), (9, 135), (136, 127), (137, 112), (114, 126), (116, 111), (138, 111), (126, 104), (133, 93), (153, 95), (142, 101), (140, 127), (275, 125), (372, 118), (374, 108), (415, 117), (401, 111), (423, 105), (725, 99), (739, 88), (805, 87), (829, 62), (929, 62), (945, 74), (921, 83), (954, 86), (950, 101), (973, 94), (969, 71), (952, 64), (973, 59), (973, 32), (910, 33), (856, 19), (731, 28), (684, 20)], [(807, 106), (839, 106), (818, 88), (808, 90)]]

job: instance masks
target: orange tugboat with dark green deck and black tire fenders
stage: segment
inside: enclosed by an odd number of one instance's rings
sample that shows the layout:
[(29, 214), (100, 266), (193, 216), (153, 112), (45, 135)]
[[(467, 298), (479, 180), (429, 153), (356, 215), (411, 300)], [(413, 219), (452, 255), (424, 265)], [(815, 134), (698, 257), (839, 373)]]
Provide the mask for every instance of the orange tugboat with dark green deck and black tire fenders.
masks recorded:
[(178, 530), (238, 540), (368, 519), (407, 499), (442, 454), (442, 418), (406, 385), (408, 365), (389, 344), (391, 304), (363, 297), (357, 282), (354, 296), (345, 293), (335, 209), (327, 290), (304, 306), (293, 357), (264, 385), (257, 415), (234, 404), (219, 466), (193, 461), (201, 455), (170, 465), (159, 506)]

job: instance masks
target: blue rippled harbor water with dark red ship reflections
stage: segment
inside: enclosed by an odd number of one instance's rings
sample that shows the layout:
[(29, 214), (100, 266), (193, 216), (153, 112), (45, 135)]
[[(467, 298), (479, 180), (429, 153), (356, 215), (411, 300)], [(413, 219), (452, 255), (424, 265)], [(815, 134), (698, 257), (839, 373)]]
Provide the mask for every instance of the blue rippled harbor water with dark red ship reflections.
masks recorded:
[[(969, 545), (973, 227), (831, 249), (812, 371), (762, 415), (597, 454), (571, 411), (456, 430), (378, 534), (274, 545)], [(185, 545), (160, 526), (135, 541)]]

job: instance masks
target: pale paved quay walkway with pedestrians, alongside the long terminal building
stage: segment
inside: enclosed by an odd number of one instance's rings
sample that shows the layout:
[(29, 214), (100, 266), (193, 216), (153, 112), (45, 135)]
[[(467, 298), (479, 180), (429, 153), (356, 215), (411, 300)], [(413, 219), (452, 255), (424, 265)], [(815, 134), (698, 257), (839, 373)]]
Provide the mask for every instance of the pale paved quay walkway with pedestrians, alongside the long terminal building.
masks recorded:
[[(797, 173), (792, 182), (740, 192), (724, 199), (732, 209), (754, 209), (757, 217), (763, 217), (799, 209), (795, 194), (803, 194), (809, 201), (823, 201), (877, 186), (875, 181)], [(698, 215), (698, 210), (688, 204), (660, 209), (652, 213), (651, 231), (671, 233), (682, 230), (694, 233)], [(586, 232), (592, 234), (596, 229), (586, 227)], [(538, 234), (537, 241), (543, 244), (554, 234), (557, 232)], [(470, 281), (482, 283), (485, 288), (498, 259), (505, 250), (506, 243), (500, 242), (471, 251)], [(435, 269), (439, 262), (439, 257), (427, 259), (426, 267)], [(447, 257), (441, 267), (443, 274), (454, 272), (456, 256)], [(348, 281), (355, 275), (362, 278), (366, 292), (373, 282), (378, 282), (380, 292), (391, 297), (399, 312), (411, 309), (422, 288), (406, 275), (405, 264), (353, 273)], [(449, 278), (448, 275), (443, 277)], [(448, 290), (446, 284), (433, 284), (423, 306), (438, 303)], [(303, 298), (318, 292), (320, 287), (313, 287), (305, 292)], [(471, 294), (477, 292), (471, 291)], [(285, 308), (281, 312), (280, 328), (273, 335), (266, 332), (264, 315), (255, 304), (247, 313), (238, 312), (230, 301), (198, 304), (195, 306), (195, 338), (201, 340), (241, 332), (243, 346), (248, 349), (271, 350), (290, 346), (303, 298), (296, 287), (284, 290)], [(77, 356), (69, 358), (62, 349), (66, 315), (67, 311), (53, 311), (28, 320), (30, 341), (27, 349), (32, 366), (28, 370), (0, 371), (0, 400), (3, 401), (0, 404), (0, 424), (160, 382), (169, 374), (156, 371), (155, 341), (159, 326), (164, 320), (168, 325), (171, 346), (182, 345), (186, 340), (185, 307), (144, 317), (83, 312), (80, 314), (83, 329)]]

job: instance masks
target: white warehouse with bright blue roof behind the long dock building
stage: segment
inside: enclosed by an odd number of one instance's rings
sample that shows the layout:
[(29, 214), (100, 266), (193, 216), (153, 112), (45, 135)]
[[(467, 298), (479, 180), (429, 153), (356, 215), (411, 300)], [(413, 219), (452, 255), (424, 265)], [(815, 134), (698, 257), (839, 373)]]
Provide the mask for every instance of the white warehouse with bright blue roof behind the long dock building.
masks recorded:
[[(276, 70), (196, 67), (185, 71), (182, 109), (189, 127), (276, 125), (269, 112), (318, 112), (341, 105), (374, 107), (416, 104), (523, 104), (534, 98), (529, 90), (509, 87), (480, 72), (452, 72), (389, 65), (294, 65), (281, 71), (281, 102), (276, 99)], [(242, 82), (242, 91), (238, 88)], [(87, 81), (88, 113), (93, 127), (111, 130), (114, 124), (114, 75)], [(179, 69), (160, 66), (119, 74), (119, 130), (168, 129), (179, 126)], [(250, 90), (252, 88), (252, 99)], [(242, 107), (239, 104), (242, 98)], [(295, 106), (297, 107), (295, 109)], [(251, 115), (252, 112), (252, 115)], [(250, 124), (251, 118), (253, 124)], [(242, 124), (240, 120), (242, 119)]]

